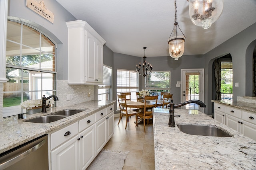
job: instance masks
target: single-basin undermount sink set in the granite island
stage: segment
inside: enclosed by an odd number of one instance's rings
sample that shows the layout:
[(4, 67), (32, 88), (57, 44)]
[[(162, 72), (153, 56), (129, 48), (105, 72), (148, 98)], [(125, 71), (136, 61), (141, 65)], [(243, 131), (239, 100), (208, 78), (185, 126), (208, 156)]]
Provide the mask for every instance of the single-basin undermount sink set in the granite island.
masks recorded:
[(232, 137), (222, 129), (214, 126), (203, 125), (177, 125), (180, 131), (190, 135), (214, 136), (214, 137)]

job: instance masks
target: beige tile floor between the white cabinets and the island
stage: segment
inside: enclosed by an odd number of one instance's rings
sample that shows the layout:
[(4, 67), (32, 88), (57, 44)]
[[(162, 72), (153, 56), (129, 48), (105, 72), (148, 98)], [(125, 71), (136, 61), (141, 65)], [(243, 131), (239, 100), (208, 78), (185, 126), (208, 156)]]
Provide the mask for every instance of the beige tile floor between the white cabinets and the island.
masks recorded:
[(116, 151), (129, 151), (124, 161), (123, 170), (154, 170), (154, 134), (153, 124), (146, 125), (144, 133), (143, 123), (135, 127), (135, 116), (125, 129), (126, 117), (117, 125), (119, 117), (114, 118), (114, 135), (105, 145), (104, 149)]

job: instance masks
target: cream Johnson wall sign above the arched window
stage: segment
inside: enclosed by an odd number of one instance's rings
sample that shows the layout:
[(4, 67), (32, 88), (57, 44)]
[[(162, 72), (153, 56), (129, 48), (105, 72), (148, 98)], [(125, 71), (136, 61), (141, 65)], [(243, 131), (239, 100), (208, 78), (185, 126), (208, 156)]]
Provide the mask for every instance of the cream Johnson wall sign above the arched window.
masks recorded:
[(35, 1), (35, 0), (26, 0), (26, 6), (39, 14), (40, 16), (44, 17), (46, 20), (53, 23), (54, 20), (54, 14), (46, 8), (44, 5), (44, 1)]

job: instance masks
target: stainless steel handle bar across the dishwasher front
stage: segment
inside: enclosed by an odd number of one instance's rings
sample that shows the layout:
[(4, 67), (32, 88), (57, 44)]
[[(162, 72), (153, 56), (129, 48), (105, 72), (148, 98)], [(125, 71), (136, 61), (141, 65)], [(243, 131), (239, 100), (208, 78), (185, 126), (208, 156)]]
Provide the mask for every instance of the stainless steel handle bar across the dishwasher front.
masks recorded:
[(7, 168), (7, 167), (15, 164), (16, 162), (18, 162), (18, 161), (22, 160), (23, 158), (25, 158), (26, 156), (28, 156), (30, 153), (38, 150), (44, 144), (45, 144), (45, 139), (40, 141), (39, 143), (37, 143), (34, 147), (31, 147), (30, 149), (26, 150), (25, 152), (18, 154), (17, 156), (15, 156), (14, 158), (11, 158), (10, 160), (8, 160), (6, 162), (3, 162), (2, 164), (0, 164), (0, 169), (4, 169), (4, 168)]

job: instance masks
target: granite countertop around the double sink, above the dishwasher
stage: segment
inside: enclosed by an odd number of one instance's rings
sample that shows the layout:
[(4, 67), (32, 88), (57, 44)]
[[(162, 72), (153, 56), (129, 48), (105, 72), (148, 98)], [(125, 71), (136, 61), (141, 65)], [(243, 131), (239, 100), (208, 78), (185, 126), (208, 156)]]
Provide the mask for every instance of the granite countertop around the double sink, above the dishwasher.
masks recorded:
[[(110, 106), (114, 104), (114, 102), (116, 101), (89, 101), (72, 106), (54, 107), (47, 111), (47, 113), (36, 113), (32, 115), (24, 114), (24, 119), (18, 119), (18, 115), (4, 118), (3, 121), (0, 121), (0, 153), (40, 137), (41, 135), (54, 131), (60, 127), (68, 125), (69, 123), (78, 121), (79, 119), (82, 119), (88, 115), (92, 115), (95, 113), (95, 111)], [(26, 119), (40, 117), (42, 115), (47, 115), (63, 109), (86, 110), (51, 123), (24, 122)]]

